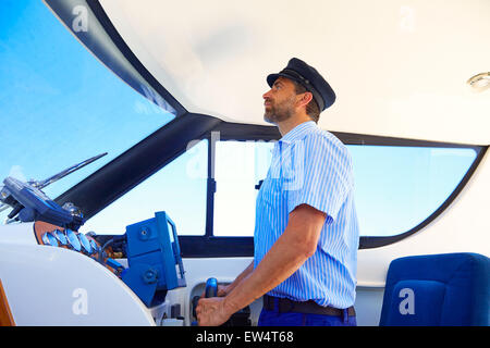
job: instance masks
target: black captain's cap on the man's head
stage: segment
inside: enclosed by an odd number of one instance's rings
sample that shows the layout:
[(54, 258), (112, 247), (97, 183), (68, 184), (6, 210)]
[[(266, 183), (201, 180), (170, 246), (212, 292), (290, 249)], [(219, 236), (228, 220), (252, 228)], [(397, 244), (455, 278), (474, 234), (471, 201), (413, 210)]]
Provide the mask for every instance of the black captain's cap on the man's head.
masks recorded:
[(315, 67), (306, 64), (301, 59), (291, 59), (287, 66), (281, 72), (267, 76), (267, 83), (270, 87), (272, 87), (279, 76), (291, 78), (311, 92), (318, 108), (320, 108), (320, 112), (330, 108), (335, 101), (335, 92), (329, 83)]

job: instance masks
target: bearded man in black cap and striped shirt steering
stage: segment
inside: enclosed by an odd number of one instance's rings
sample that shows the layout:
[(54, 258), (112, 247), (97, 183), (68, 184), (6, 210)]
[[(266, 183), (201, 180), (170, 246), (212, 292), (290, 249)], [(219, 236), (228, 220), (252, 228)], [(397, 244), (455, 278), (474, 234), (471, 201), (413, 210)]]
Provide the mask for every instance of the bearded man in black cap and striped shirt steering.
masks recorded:
[(282, 138), (257, 196), (254, 262), (220, 297), (199, 300), (198, 323), (220, 325), (264, 296), (259, 325), (356, 325), (352, 161), (316, 124), (335, 94), (296, 58), (267, 82), (264, 117)]

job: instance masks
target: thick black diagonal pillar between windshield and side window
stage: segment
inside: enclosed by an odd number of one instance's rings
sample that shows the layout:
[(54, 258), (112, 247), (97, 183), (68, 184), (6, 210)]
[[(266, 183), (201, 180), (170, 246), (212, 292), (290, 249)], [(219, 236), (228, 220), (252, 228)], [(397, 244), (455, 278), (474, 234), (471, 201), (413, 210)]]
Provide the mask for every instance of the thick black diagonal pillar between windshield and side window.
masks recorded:
[(203, 139), (220, 122), (191, 113), (174, 119), (57, 197), (56, 202), (72, 202), (90, 219), (185, 152), (193, 140)]

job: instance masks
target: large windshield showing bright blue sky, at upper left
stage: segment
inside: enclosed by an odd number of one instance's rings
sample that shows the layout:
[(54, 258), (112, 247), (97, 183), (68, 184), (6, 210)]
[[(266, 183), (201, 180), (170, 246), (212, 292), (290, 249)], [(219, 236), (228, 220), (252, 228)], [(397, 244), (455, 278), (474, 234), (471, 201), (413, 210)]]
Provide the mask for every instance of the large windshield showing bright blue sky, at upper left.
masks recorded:
[(56, 198), (173, 119), (103, 66), (41, 1), (2, 1), (0, 181), (45, 179), (108, 152), (44, 189)]

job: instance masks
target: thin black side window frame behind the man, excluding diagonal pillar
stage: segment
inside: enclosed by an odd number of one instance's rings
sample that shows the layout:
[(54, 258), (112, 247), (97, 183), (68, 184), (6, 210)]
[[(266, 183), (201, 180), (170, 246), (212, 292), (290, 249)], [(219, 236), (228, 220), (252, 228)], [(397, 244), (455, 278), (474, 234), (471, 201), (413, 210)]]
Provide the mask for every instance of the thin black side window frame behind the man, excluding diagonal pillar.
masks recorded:
[[(219, 140), (279, 140), (281, 135), (274, 126), (261, 126), (243, 123), (222, 122), (210, 132), (219, 132)], [(396, 137), (372, 136), (364, 134), (331, 132), (345, 145), (366, 145), (366, 146), (395, 146), (395, 147), (430, 147), (430, 148), (464, 148), (476, 151), (475, 160), (463, 176), (460, 184), (442, 202), (442, 204), (428, 215), (424, 221), (413, 228), (392, 236), (360, 236), (359, 249), (379, 248), (390, 244), (397, 243), (426, 227), (436, 220), (460, 195), (466, 186), (478, 164), (483, 158), (488, 146), (475, 146), (464, 144), (451, 144), (440, 141), (404, 139)], [(215, 192), (216, 182), (213, 171), (216, 162), (211, 161), (213, 151), (216, 151), (216, 140), (212, 141), (210, 133), (207, 135), (209, 140), (208, 151), (208, 199), (207, 199), (207, 221), (205, 236), (182, 236), (180, 237), (181, 250), (187, 258), (226, 258), (226, 257), (252, 257), (254, 254), (254, 238), (241, 236), (215, 236), (213, 235), (213, 215), (215, 215)]]

